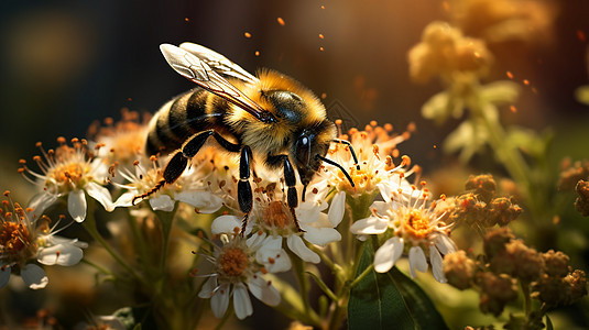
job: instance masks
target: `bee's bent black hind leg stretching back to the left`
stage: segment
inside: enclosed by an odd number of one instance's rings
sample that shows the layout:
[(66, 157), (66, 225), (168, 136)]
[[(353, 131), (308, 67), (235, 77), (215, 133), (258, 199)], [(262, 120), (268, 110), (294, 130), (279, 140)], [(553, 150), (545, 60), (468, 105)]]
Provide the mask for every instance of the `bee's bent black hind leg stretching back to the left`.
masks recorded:
[(133, 197), (133, 200), (131, 201), (132, 205), (135, 205), (135, 201), (138, 199), (146, 198), (153, 194), (155, 194), (159, 189), (161, 189), (165, 185), (173, 184), (178, 179), (178, 177), (184, 173), (186, 169), (186, 166), (188, 166), (188, 160), (196, 156), (198, 151), (205, 145), (205, 142), (207, 142), (207, 139), (212, 135), (217, 142), (225, 147), (226, 150), (230, 152), (239, 152), (240, 145), (231, 143), (227, 141), (225, 138), (222, 138), (219, 133), (215, 132), (215, 130), (208, 130), (200, 133), (196, 133), (193, 136), (190, 136), (181, 147), (181, 150), (176, 151), (167, 165), (164, 168), (163, 179), (160, 180), (153, 188), (151, 188), (148, 193), (143, 195), (138, 195)]

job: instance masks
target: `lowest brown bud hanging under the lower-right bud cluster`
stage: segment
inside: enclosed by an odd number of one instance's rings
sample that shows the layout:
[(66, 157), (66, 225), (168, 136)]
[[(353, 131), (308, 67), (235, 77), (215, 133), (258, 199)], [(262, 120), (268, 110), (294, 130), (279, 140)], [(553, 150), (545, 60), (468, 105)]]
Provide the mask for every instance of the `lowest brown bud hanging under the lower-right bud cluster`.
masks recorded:
[(482, 312), (491, 312), (499, 316), (509, 301), (517, 298), (517, 280), (506, 274), (495, 275), (490, 272), (482, 274), (480, 278)]

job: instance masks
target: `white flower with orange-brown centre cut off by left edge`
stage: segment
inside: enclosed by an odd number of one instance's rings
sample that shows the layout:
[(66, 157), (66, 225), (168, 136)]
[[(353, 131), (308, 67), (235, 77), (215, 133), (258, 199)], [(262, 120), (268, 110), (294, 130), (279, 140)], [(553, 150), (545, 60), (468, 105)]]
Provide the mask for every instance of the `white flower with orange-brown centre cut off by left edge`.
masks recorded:
[(44, 288), (48, 283), (45, 271), (32, 262), (70, 266), (81, 260), (81, 248), (86, 248), (86, 243), (55, 235), (46, 222), (35, 227), (19, 204), (3, 200), (3, 206), (0, 213), (0, 287), (15, 271), (30, 288)]

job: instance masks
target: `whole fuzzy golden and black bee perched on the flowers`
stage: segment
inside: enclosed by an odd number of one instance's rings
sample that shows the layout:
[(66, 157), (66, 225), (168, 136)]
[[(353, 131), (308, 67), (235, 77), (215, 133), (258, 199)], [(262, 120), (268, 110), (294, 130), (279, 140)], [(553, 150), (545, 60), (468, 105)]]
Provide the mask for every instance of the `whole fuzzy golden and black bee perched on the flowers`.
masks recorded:
[(238, 204), (244, 213), (242, 235), (253, 206), (250, 176), (254, 158), (263, 160), (270, 169), (283, 168), (286, 205), (299, 232), (303, 230), (294, 211), (298, 206), (295, 168), (303, 184), (303, 201), (321, 163), (338, 167), (353, 187), (348, 172), (326, 154), (330, 143), (346, 144), (359, 167), (356, 153), (348, 141), (336, 139), (336, 125), (309, 89), (274, 70), (253, 76), (197, 44), (162, 44), (160, 50), (172, 68), (198, 87), (173, 98), (152, 118), (146, 152), (172, 153), (172, 157), (163, 178), (148, 193), (135, 196), (133, 205), (174, 183), (210, 138), (221, 148), (240, 154)]

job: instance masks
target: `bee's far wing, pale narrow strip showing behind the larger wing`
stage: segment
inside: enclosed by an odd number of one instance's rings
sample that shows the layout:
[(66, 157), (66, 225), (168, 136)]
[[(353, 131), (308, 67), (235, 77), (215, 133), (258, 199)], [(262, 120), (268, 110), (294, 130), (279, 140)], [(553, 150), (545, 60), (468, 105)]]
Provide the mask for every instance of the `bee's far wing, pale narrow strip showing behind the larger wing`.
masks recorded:
[(183, 43), (179, 47), (200, 58), (200, 61), (220, 75), (238, 78), (251, 84), (255, 84), (259, 80), (252, 74), (232, 63), (227, 57), (205, 46), (193, 43)]

